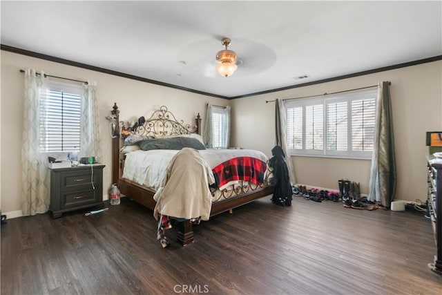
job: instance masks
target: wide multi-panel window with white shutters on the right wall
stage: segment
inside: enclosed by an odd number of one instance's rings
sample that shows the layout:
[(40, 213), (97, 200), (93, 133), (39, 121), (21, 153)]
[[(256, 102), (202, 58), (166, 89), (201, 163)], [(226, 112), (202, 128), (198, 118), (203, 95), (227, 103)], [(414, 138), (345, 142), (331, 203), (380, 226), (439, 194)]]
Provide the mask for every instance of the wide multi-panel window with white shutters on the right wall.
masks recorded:
[(287, 102), (287, 143), (292, 155), (371, 158), (375, 90)]

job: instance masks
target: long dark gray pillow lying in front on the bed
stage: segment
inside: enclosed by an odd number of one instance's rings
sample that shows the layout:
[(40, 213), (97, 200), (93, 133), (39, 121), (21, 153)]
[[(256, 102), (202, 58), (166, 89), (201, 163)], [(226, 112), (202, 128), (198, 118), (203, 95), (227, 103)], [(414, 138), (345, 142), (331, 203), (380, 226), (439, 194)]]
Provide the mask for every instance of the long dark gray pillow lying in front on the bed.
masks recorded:
[(192, 149), (206, 149), (204, 144), (199, 140), (191, 137), (166, 137), (166, 138), (151, 138), (138, 142), (143, 151), (151, 151), (153, 149), (173, 149), (180, 150), (185, 147)]

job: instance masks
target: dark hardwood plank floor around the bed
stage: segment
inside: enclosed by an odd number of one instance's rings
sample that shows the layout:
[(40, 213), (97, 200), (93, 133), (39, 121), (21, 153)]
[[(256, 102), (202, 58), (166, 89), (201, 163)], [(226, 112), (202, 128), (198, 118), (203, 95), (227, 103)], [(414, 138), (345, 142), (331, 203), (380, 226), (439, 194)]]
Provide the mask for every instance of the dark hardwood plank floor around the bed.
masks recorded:
[(1, 294), (442, 294), (423, 213), (266, 197), (162, 249), (152, 211), (127, 198), (109, 207), (7, 220)]

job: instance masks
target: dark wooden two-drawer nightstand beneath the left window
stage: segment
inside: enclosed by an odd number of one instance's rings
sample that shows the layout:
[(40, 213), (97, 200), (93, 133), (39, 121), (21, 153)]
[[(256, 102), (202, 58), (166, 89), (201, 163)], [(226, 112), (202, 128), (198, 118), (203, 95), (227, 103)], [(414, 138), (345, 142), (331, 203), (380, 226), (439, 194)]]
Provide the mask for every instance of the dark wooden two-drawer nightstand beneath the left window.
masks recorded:
[(69, 168), (50, 169), (50, 206), (54, 218), (63, 212), (87, 207), (102, 209), (102, 164), (88, 164)]

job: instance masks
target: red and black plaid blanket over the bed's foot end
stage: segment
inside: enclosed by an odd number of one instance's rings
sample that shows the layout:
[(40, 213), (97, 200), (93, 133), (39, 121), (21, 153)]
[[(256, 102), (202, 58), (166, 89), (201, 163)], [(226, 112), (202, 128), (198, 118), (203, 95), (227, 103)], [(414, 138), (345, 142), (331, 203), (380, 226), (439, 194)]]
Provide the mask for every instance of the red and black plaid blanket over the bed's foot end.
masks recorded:
[(212, 169), (218, 187), (234, 180), (245, 180), (261, 185), (266, 170), (265, 162), (251, 157), (231, 158)]

